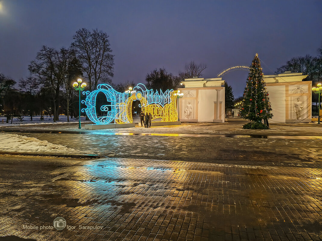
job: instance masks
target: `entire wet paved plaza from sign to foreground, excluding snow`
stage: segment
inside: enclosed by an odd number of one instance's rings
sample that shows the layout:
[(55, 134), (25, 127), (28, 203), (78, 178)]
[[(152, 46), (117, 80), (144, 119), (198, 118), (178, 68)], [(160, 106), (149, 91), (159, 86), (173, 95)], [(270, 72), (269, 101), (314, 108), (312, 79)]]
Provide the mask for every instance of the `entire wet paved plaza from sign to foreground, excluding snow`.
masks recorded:
[(322, 240), (319, 126), (205, 124), (0, 128), (101, 156), (0, 156), (0, 240)]

